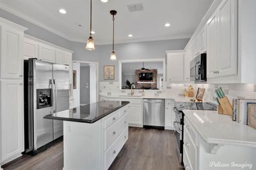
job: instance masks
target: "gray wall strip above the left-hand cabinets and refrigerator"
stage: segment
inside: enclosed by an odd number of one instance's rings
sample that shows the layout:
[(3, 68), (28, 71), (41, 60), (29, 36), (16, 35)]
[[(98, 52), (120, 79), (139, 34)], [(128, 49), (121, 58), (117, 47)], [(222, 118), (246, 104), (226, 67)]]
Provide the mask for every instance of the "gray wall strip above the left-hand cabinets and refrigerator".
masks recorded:
[(24, 27), (27, 27), (28, 30), (25, 31), (25, 34), (28, 34), (29, 36), (34, 36), (44, 41), (48, 41), (49, 43), (53, 43), (55, 45), (62, 46), (64, 48), (72, 50), (71, 41), (69, 41), (68, 39), (62, 38), (61, 36), (58, 36), (50, 31), (42, 29), (41, 27), (32, 24), (31, 22), (28, 22), (20, 17), (17, 17), (16, 15), (13, 15), (12, 13), (0, 9), (0, 17), (15, 22)]

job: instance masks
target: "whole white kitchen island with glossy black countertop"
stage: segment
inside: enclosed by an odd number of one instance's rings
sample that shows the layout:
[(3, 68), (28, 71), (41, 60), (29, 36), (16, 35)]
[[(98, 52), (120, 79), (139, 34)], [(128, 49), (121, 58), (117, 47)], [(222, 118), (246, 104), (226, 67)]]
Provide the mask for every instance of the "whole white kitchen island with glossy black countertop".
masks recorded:
[(127, 101), (100, 101), (44, 118), (63, 120), (63, 170), (108, 169), (128, 139)]

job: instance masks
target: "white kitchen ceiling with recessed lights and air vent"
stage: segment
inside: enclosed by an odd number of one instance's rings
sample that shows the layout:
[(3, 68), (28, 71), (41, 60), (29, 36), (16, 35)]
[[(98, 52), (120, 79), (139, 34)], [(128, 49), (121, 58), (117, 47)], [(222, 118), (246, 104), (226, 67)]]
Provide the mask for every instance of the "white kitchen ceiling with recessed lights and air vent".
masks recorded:
[[(190, 38), (214, 0), (93, 0), (92, 28), (98, 45), (111, 44), (112, 16), (116, 10), (116, 43)], [(127, 5), (143, 4), (129, 12)], [(40, 25), (71, 41), (89, 36), (89, 0), (0, 0), (0, 8)], [(67, 10), (65, 15), (60, 8)], [(170, 27), (164, 27), (169, 22)], [(81, 27), (78, 24), (82, 24)], [(133, 37), (129, 38), (128, 34)]]

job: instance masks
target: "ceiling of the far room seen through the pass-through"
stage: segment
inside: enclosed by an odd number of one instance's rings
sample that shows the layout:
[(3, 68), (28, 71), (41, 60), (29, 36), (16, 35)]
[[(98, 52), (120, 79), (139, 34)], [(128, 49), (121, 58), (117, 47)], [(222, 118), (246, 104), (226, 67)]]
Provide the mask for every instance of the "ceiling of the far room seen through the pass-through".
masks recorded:
[(141, 67), (145, 69), (157, 69), (157, 74), (163, 74), (163, 62), (128, 62), (122, 63), (122, 74), (124, 75), (135, 75), (136, 69), (141, 69)]

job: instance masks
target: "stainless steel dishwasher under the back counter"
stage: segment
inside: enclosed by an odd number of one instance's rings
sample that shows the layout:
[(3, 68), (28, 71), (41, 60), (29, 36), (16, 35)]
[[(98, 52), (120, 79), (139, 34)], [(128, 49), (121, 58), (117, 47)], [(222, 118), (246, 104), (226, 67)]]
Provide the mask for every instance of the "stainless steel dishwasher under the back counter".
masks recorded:
[(164, 99), (143, 99), (143, 127), (164, 129)]

